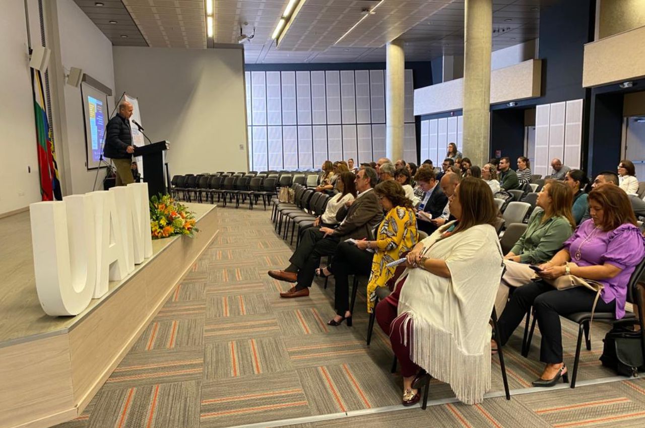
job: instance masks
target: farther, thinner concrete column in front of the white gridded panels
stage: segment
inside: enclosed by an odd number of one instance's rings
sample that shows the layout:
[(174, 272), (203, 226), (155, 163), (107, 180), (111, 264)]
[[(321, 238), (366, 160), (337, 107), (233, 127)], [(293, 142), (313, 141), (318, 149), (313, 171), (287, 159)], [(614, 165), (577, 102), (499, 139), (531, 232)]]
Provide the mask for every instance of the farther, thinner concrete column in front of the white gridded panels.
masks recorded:
[(397, 159), (404, 159), (405, 54), (403, 52), (403, 42), (391, 41), (387, 44), (386, 52), (385, 151), (386, 156), (392, 162), (396, 162)]

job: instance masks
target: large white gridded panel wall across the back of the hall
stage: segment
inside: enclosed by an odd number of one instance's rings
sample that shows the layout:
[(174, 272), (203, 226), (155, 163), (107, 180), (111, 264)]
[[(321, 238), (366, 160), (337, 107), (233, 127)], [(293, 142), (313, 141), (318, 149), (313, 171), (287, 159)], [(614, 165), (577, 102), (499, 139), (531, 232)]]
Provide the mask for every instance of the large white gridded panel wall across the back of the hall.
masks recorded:
[[(412, 70), (406, 70), (404, 157), (415, 162)], [(252, 170), (307, 170), (385, 156), (383, 70), (246, 72)]]

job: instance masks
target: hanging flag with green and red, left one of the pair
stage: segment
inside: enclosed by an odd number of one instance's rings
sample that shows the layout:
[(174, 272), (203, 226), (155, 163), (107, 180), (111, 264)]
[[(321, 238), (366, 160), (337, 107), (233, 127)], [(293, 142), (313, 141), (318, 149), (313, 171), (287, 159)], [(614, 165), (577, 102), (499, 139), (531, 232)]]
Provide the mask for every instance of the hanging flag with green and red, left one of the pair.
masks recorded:
[(38, 150), (38, 169), (40, 171), (41, 198), (43, 200), (62, 200), (61, 182), (52, 144), (52, 129), (47, 120), (43, 78), (39, 70), (32, 68), (32, 93), (34, 94), (34, 118)]

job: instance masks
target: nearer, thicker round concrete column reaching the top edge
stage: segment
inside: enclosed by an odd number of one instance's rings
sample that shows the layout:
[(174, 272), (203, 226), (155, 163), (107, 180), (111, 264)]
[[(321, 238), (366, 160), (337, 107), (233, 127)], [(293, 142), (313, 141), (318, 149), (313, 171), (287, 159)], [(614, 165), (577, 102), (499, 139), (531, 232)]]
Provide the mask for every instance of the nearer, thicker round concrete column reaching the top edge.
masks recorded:
[(466, 0), (464, 34), (464, 156), (488, 161), (492, 0)]

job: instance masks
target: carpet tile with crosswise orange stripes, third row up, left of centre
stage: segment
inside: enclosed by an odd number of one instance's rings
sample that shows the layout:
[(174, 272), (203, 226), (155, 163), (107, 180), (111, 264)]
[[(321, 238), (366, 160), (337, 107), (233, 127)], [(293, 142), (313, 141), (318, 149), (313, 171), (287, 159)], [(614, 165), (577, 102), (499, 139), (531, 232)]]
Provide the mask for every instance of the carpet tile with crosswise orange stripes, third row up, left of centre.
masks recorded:
[(280, 335), (282, 331), (275, 315), (206, 318), (204, 326), (204, 340), (208, 342)]

